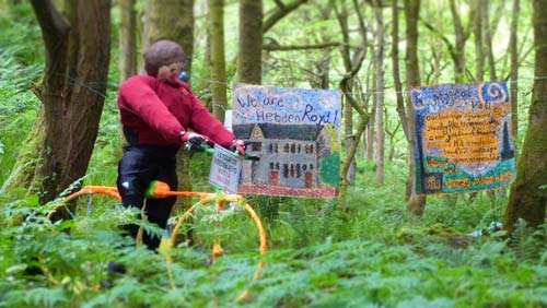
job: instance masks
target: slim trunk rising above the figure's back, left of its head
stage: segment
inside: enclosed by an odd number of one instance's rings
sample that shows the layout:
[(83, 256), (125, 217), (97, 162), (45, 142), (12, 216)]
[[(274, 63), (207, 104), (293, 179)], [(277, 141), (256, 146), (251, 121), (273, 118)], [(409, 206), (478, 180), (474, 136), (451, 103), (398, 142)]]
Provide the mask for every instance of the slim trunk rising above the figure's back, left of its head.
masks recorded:
[(137, 74), (137, 13), (135, 0), (119, 0), (119, 82)]

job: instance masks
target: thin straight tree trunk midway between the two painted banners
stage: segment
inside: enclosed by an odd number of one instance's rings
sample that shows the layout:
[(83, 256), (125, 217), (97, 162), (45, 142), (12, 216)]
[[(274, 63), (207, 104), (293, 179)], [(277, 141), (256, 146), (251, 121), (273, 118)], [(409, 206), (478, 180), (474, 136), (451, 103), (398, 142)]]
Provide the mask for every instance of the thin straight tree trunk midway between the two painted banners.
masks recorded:
[(376, 185), (384, 185), (384, 14), (379, 5), (376, 14)]

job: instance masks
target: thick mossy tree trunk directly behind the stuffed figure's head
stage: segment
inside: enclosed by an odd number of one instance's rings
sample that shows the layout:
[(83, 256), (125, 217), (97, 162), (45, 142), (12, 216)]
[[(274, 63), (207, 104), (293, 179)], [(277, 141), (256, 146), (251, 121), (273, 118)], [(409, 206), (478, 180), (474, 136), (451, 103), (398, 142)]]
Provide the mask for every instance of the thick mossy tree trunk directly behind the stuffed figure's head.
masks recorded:
[[(184, 49), (188, 62), (186, 72), (189, 81), (191, 75), (191, 56), (194, 51), (194, 0), (152, 0), (148, 2), (143, 33), (143, 49), (160, 38), (177, 42)], [(189, 82), (188, 81), (188, 82)], [(176, 157), (178, 190), (191, 190), (189, 175), (190, 156), (179, 151)], [(174, 212), (191, 205), (188, 198), (178, 198)]]

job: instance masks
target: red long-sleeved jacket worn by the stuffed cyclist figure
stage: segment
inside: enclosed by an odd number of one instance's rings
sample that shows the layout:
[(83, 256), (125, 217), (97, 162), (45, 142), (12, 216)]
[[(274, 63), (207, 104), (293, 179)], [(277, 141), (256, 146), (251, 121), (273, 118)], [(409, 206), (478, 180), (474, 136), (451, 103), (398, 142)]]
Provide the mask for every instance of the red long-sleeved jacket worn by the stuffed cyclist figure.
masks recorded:
[(191, 129), (229, 147), (233, 133), (207, 110), (186, 83), (177, 83), (148, 75), (127, 80), (118, 96), (121, 125), (137, 133), (139, 144), (181, 144), (181, 131)]

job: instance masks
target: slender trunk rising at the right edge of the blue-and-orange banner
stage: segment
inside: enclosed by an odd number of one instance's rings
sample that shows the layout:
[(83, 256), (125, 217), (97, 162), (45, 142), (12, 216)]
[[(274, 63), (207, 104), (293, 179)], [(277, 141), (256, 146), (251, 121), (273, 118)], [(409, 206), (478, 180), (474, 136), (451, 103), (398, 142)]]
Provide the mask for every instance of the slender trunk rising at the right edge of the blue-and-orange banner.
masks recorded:
[[(514, 0), (511, 16), (511, 32), (509, 36), (509, 52), (511, 54), (511, 134), (513, 144), (516, 144), (519, 137), (519, 14), (521, 12), (521, 1)], [(517, 151), (515, 151), (516, 154)]]

